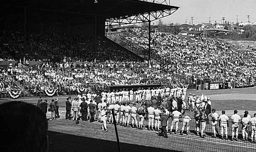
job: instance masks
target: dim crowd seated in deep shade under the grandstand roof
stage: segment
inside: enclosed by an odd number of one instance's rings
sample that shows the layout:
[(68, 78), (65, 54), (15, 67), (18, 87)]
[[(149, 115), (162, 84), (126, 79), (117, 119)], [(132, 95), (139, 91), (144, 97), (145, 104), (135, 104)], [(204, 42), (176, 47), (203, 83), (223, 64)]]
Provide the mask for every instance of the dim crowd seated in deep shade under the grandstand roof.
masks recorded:
[[(20, 58), (23, 54), (24, 34), (21, 30), (0, 30), (1, 58)], [(139, 58), (120, 46), (97, 37), (96, 50), (94, 37), (86, 34), (46, 33), (28, 31), (26, 38), (26, 58), (39, 60), (50, 58), (62, 60), (64, 56), (77, 57), (89, 61), (97, 58), (106, 60), (137, 61)]]

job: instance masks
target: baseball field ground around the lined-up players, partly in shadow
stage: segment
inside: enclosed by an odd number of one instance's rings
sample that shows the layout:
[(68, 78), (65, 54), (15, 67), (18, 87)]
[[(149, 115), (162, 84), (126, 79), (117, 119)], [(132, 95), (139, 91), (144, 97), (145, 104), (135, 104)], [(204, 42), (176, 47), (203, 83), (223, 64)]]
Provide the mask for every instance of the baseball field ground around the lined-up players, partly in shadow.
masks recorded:
[[(194, 93), (201, 96), (205, 93), (207, 97), (211, 97), (212, 108), (220, 113), (225, 110), (228, 116), (231, 116), (234, 110), (239, 111), (239, 115), (243, 115), (244, 110), (248, 110), (253, 116), (256, 113), (256, 88), (241, 88), (230, 90), (204, 90), (194, 91), (188, 90), (188, 93)], [(59, 105), (64, 106), (66, 97), (57, 97)], [(73, 98), (73, 97), (72, 97)], [(48, 104), (51, 98), (48, 99)], [(12, 101), (13, 99), (7, 99)], [(19, 98), (17, 101), (26, 101), (36, 103), (38, 98)], [(4, 101), (4, 100), (2, 100)], [(49, 140), (50, 151), (67, 151), (67, 152), (92, 152), (92, 151), (118, 151), (116, 145), (116, 135), (113, 124), (107, 124), (109, 132), (101, 131), (100, 122), (80, 122), (75, 124), (71, 120), (65, 120), (65, 108), (59, 109), (61, 118), (49, 121)], [(192, 117), (193, 113), (189, 113)], [(47, 113), (50, 117), (50, 113)], [(145, 122), (147, 124), (147, 121)], [(171, 121), (169, 122), (170, 127)], [(180, 125), (181, 126), (181, 125)], [(241, 127), (239, 129), (239, 140), (221, 140), (211, 136), (211, 126), (206, 125), (206, 138), (195, 136), (194, 120), (191, 122), (190, 132), (188, 136), (179, 134), (169, 134), (169, 138), (157, 136), (157, 131), (148, 131), (146, 129), (139, 130), (117, 126), (119, 139), (121, 142), (121, 151), (187, 151), (187, 152), (222, 152), (222, 151), (239, 151), (251, 152), (256, 151), (256, 144), (249, 141), (242, 141)], [(179, 128), (180, 131), (180, 128)], [(231, 125), (228, 128), (228, 134), (231, 136)], [(249, 129), (249, 138), (250, 138)], [(229, 136), (229, 138), (231, 138)]]

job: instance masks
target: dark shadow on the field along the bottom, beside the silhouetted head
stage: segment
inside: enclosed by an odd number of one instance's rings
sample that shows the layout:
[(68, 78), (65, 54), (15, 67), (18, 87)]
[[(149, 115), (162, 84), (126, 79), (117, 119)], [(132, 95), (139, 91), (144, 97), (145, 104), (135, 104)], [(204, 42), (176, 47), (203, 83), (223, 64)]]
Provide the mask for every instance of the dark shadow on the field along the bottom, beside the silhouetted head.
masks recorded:
[[(53, 131), (48, 131), (48, 135), (49, 152), (118, 152), (118, 145), (113, 141), (86, 138)], [(127, 143), (120, 143), (120, 147), (121, 152), (179, 152)]]

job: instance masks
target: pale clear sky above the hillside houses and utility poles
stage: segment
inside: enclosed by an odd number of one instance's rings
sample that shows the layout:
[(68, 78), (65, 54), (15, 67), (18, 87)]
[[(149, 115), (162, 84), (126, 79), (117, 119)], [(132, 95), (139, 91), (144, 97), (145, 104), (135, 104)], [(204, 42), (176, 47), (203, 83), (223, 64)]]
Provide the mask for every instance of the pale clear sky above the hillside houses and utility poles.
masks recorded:
[[(202, 22), (223, 23), (222, 17), (229, 22), (248, 22), (247, 15), (250, 15), (250, 22), (256, 21), (256, 0), (170, 0), (171, 5), (180, 7), (174, 14), (162, 19), (163, 23), (185, 23), (191, 21), (193, 24)], [(154, 22), (153, 22), (154, 23)]]

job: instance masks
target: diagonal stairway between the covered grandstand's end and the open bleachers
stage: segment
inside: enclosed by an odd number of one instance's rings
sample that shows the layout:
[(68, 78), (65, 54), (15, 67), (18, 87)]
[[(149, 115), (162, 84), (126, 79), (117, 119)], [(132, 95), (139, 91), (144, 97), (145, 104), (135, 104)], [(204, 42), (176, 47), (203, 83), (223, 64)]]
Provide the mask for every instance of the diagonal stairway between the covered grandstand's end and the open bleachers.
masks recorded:
[[(139, 55), (140, 57), (144, 58), (145, 60), (148, 60), (148, 50), (143, 48), (142, 46), (136, 45), (133, 41), (129, 41), (125, 39), (125, 35), (129, 35), (130, 37), (136, 37), (135, 34), (131, 31), (126, 31), (122, 33), (116, 33), (116, 34), (111, 34), (109, 35), (109, 39), (111, 41), (114, 41), (115, 43), (125, 47), (129, 51), (135, 53), (136, 55)], [(163, 60), (160, 55), (154, 53), (151, 51), (150, 54), (151, 60), (154, 60), (155, 62), (161, 63), (161, 64), (171, 64), (170, 61), (168, 60)]]

